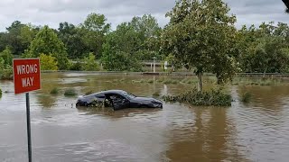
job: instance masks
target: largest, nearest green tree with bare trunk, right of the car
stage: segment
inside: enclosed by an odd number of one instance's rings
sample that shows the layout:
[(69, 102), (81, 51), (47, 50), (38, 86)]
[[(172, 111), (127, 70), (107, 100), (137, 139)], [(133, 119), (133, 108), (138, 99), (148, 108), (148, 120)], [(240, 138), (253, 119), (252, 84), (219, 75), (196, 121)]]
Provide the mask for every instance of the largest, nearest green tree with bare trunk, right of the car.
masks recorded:
[(170, 23), (162, 35), (162, 50), (172, 53), (189, 68), (194, 68), (202, 90), (204, 72), (216, 74), (219, 83), (236, 73), (236, 17), (228, 15), (228, 4), (221, 0), (179, 0), (166, 14)]

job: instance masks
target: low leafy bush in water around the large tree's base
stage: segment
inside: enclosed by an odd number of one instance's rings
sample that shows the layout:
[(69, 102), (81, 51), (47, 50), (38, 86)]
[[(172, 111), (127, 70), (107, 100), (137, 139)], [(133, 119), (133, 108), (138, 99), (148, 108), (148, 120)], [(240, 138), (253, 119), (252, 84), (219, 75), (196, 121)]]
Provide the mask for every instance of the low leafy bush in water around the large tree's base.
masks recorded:
[(232, 97), (229, 94), (225, 94), (219, 88), (217, 90), (212, 89), (209, 92), (198, 92), (196, 88), (191, 91), (171, 96), (163, 96), (164, 101), (168, 102), (180, 102), (191, 103), (192, 105), (204, 105), (204, 106), (230, 106)]

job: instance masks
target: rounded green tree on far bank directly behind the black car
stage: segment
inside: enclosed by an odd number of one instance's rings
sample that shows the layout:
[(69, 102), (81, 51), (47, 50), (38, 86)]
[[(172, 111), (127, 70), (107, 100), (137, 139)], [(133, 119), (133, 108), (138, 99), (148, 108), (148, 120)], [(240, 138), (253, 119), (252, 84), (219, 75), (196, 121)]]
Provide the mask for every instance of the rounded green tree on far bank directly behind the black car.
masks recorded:
[(121, 23), (117, 30), (107, 35), (101, 61), (110, 71), (137, 71), (140, 66), (140, 43), (138, 33), (128, 23)]

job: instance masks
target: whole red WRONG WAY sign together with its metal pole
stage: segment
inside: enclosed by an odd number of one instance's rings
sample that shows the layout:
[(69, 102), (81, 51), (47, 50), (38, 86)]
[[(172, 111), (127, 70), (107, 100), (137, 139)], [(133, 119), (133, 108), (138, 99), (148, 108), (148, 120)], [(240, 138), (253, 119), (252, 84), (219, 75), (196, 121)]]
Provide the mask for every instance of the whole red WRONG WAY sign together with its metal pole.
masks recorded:
[(26, 121), (28, 139), (28, 160), (33, 161), (31, 124), (30, 124), (30, 101), (29, 92), (41, 89), (41, 68), (39, 58), (14, 59), (14, 94), (26, 94)]

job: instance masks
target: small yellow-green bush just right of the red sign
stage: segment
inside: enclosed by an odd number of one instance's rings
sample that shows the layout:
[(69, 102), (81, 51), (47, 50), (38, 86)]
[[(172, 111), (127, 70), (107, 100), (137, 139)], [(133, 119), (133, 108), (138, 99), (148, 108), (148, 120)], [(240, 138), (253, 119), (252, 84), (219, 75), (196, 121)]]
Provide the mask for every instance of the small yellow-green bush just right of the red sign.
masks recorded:
[(51, 54), (41, 54), (40, 63), (42, 70), (58, 70), (58, 63), (56, 61), (56, 58), (52, 57)]

